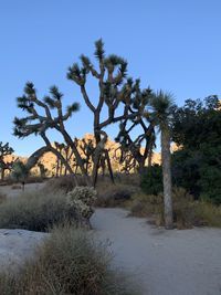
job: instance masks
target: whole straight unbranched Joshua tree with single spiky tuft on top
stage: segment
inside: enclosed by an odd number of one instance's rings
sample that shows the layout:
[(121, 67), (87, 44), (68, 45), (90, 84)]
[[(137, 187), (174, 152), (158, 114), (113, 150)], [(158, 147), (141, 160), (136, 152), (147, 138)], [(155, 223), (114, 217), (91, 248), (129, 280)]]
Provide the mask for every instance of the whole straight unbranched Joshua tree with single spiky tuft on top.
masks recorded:
[(160, 130), (161, 161), (164, 180), (164, 203), (166, 229), (172, 229), (172, 185), (171, 185), (171, 159), (170, 159), (170, 123), (172, 114), (172, 95), (162, 91), (152, 94), (150, 99), (151, 117)]

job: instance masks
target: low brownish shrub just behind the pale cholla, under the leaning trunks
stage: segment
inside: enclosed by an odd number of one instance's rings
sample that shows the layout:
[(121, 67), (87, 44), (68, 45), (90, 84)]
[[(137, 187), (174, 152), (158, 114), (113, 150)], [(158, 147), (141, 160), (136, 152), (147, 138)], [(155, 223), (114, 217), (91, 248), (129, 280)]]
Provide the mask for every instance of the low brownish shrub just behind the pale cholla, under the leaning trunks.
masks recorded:
[(80, 187), (87, 186), (86, 180), (83, 176), (69, 175), (50, 179), (44, 187), (44, 191), (46, 192), (63, 191), (67, 193), (76, 187), (75, 177), (77, 178), (77, 186)]

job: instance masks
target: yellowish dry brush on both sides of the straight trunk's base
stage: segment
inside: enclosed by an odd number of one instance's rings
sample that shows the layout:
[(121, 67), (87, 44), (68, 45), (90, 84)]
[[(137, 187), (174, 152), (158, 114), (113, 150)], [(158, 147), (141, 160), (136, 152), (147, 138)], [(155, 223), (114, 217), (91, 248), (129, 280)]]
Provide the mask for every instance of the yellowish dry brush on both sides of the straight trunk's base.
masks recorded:
[[(199, 225), (221, 228), (221, 207), (193, 201), (192, 197), (181, 188), (173, 189), (172, 201), (177, 229), (191, 229)], [(149, 218), (156, 225), (164, 225), (162, 194), (134, 194), (128, 208), (131, 215)]]

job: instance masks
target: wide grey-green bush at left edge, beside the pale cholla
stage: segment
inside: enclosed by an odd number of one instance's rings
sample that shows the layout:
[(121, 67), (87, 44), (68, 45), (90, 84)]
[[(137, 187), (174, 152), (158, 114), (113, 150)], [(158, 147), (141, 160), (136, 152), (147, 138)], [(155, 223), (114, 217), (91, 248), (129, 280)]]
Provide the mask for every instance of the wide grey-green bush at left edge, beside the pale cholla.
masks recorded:
[(23, 193), (0, 204), (0, 228), (46, 231), (52, 224), (76, 219), (62, 193)]

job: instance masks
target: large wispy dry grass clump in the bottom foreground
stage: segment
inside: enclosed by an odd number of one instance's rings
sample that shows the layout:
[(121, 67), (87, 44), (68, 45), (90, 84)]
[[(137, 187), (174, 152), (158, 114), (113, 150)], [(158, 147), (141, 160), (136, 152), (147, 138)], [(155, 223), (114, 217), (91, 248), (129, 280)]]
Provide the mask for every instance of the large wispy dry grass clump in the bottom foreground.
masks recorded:
[(122, 273), (110, 266), (106, 245), (74, 228), (56, 228), (19, 274), (0, 275), (0, 294), (133, 295)]

